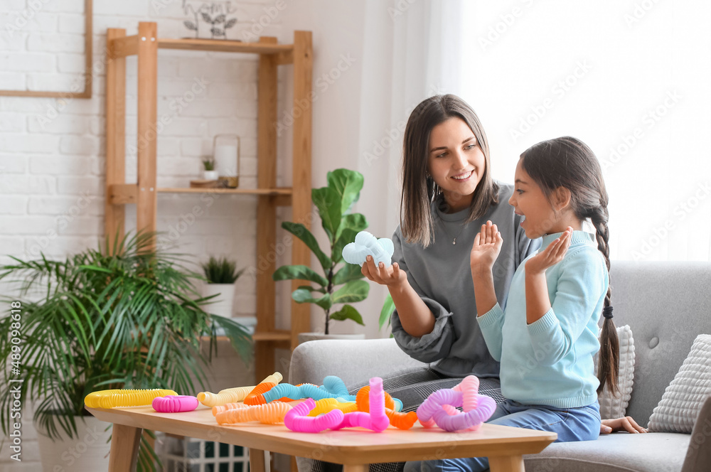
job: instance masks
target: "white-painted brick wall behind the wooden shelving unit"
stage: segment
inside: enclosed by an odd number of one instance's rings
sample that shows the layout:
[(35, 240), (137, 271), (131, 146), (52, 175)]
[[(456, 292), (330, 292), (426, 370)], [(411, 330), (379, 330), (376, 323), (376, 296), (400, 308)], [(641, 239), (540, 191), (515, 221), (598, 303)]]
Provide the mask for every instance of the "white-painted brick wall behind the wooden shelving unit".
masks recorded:
[[(0, 88), (68, 92), (84, 70), (84, 16), (80, 0), (3, 0), (0, 12)], [(188, 3), (199, 5), (199, 1)], [(164, 8), (159, 8), (165, 4)], [(232, 1), (237, 25), (229, 38), (258, 21), (273, 0)], [(96, 247), (103, 236), (105, 193), (105, 50), (106, 28), (137, 31), (139, 21), (157, 21), (160, 36), (193, 36), (182, 23), (188, 16), (182, 1), (95, 1), (94, 63), (90, 100), (0, 97), (0, 262), (9, 256), (32, 258), (41, 250), (50, 257), (65, 257)], [(37, 10), (37, 11), (35, 11)], [(30, 17), (27, 21), (18, 18)], [(22, 27), (6, 34), (7, 24)], [(282, 18), (262, 35), (278, 36)], [(207, 28), (201, 25), (201, 31)], [(282, 38), (289, 41), (291, 34)], [(204, 80), (203, 90), (191, 88)], [(127, 60), (127, 181), (135, 181), (137, 113), (136, 60)], [(201, 156), (211, 154), (213, 136), (236, 133), (242, 137), (240, 186), (256, 186), (257, 176), (257, 61), (248, 55), (161, 50), (159, 59), (159, 118), (169, 118), (158, 138), (159, 186), (188, 186), (201, 177)], [(193, 95), (194, 94), (194, 95)], [(186, 103), (181, 106), (179, 99)], [(283, 180), (282, 176), (279, 177)], [(257, 199), (220, 195), (210, 206), (201, 195), (159, 195), (159, 231), (173, 230), (178, 250), (193, 254), (193, 261), (209, 254), (230, 255), (238, 267), (254, 265)], [(180, 222), (195, 208), (193, 224)], [(135, 227), (135, 208), (127, 206), (127, 228)], [(180, 231), (182, 230), (182, 231)], [(237, 284), (235, 310), (252, 316), (255, 281), (243, 277)], [(210, 387), (247, 385), (254, 372), (230, 358), (220, 345), (220, 356), (210, 373)], [(283, 372), (287, 375), (288, 372)], [(28, 410), (29, 411), (29, 410)], [(0, 438), (0, 441), (2, 438)], [(23, 423), (23, 462), (9, 459), (4, 448), (0, 472), (41, 470), (36, 432)]]

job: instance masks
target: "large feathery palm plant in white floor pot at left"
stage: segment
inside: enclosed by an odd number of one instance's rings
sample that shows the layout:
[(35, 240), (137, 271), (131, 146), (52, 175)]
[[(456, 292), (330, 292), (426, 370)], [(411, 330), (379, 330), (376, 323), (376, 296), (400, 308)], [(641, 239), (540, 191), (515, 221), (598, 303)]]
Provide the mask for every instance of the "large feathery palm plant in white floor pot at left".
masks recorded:
[[(90, 392), (170, 388), (194, 395), (196, 380), (205, 386), (203, 369), (218, 328), (243, 358), (250, 356), (244, 328), (203, 310), (209, 300), (193, 284), (200, 275), (186, 269), (178, 255), (156, 251), (154, 235), (127, 235), (110, 247), (100, 245), (62, 261), (43, 255), (33, 261), (13, 259), (0, 267), (0, 280), (21, 282), (21, 296), (15, 299), (19, 319), (0, 319), (0, 330), (13, 333), (0, 336), (0, 360), (10, 365), (19, 350), (21, 364), (0, 373), (0, 421), (7, 434), (17, 421), (11, 419), (11, 404), (34, 403), (36, 428), (47, 439), (40, 448), (45, 471), (56, 466), (107, 469), (105, 457), (100, 465), (86, 465), (81, 461), (91, 454), (66, 456), (67, 451), (90, 449), (83, 431), (90, 416), (84, 397)], [(203, 336), (210, 340), (207, 356), (200, 349)], [(11, 392), (18, 380), (19, 398)], [(78, 444), (68, 449), (68, 439)], [(61, 456), (51, 456), (51, 440), (59, 441)], [(92, 441), (91, 447), (102, 442)], [(156, 470), (156, 461), (149, 442), (141, 439), (139, 469)]]

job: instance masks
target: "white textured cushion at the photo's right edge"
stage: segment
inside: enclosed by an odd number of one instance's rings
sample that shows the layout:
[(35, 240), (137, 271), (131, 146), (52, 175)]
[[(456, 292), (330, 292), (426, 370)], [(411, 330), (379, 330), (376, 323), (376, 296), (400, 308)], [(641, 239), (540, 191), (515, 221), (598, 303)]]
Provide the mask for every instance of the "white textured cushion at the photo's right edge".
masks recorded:
[(688, 433), (711, 396), (711, 335), (700, 334), (649, 417), (649, 431)]

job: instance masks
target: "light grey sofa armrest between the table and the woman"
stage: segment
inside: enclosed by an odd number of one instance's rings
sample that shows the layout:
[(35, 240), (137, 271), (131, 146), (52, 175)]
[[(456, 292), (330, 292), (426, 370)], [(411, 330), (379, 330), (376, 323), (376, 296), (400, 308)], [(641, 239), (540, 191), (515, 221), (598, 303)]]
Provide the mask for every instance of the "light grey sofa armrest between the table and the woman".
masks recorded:
[(408, 367), (427, 364), (410, 358), (392, 338), (366, 340), (316, 340), (296, 346), (289, 365), (289, 383), (321, 385), (326, 375), (336, 375), (346, 385), (368, 382)]

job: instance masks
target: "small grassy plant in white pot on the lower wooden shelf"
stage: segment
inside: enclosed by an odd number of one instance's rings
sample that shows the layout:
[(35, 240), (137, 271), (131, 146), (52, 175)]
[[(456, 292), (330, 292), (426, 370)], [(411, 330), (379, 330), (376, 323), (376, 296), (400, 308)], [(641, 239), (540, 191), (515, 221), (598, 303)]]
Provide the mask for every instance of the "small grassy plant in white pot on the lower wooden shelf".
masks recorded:
[(203, 296), (214, 297), (213, 303), (205, 309), (210, 313), (230, 318), (232, 304), (235, 301), (235, 282), (245, 269), (237, 270), (237, 262), (226, 257), (216, 259), (210, 256), (208, 262), (201, 265), (205, 272), (205, 280), (208, 282), (203, 288)]

